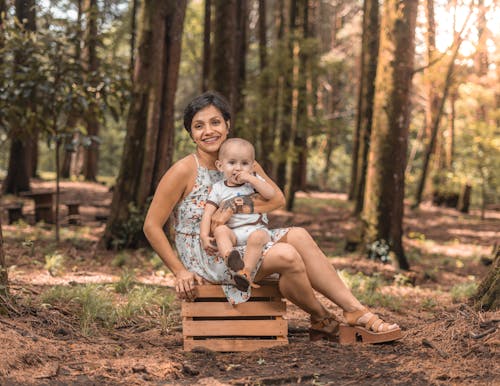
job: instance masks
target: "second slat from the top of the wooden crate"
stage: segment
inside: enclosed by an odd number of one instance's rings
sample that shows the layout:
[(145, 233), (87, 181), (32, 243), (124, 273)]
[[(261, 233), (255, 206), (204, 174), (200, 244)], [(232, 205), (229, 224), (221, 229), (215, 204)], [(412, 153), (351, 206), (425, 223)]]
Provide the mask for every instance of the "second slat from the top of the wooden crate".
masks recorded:
[(246, 302), (235, 306), (228, 302), (183, 302), (182, 316), (279, 316), (286, 312), (283, 301)]

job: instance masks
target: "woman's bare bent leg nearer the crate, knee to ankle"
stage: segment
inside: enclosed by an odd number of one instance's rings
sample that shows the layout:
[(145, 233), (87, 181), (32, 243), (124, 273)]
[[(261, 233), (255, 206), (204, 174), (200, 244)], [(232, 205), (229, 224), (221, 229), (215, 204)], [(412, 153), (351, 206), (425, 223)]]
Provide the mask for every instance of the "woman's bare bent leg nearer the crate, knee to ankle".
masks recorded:
[(267, 251), (255, 281), (273, 273), (280, 274), (280, 291), (288, 300), (311, 315), (311, 320), (329, 316), (314, 294), (306, 267), (298, 252), (289, 244), (276, 243)]

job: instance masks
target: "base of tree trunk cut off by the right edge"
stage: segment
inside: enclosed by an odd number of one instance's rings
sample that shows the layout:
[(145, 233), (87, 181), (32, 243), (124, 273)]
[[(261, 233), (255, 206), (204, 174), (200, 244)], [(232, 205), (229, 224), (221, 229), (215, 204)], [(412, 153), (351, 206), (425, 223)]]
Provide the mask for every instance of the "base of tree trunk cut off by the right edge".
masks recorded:
[(477, 293), (472, 297), (476, 307), (482, 311), (500, 309), (500, 245), (493, 248), (493, 263), (483, 279)]

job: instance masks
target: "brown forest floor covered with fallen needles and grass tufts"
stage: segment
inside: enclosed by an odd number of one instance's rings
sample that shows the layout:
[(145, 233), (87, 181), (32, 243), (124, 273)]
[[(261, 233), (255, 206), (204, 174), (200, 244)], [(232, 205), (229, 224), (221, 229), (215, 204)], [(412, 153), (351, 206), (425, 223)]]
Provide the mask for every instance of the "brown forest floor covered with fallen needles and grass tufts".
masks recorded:
[(67, 198), (81, 200), (82, 219), (79, 225), (63, 223), (58, 245), (53, 226), (30, 225), (28, 201), (25, 222), (2, 221), (12, 295), (8, 315), (0, 315), (2, 385), (500, 382), (500, 313), (478, 312), (467, 303), (500, 240), (498, 211), (481, 220), (474, 211), (428, 204), (408, 209), (404, 243), (412, 270), (401, 273), (344, 251), (355, 226), (344, 196), (302, 193), (295, 212), (273, 213), (273, 224), (306, 227), (356, 295), (398, 323), (404, 338), (380, 345), (310, 343), (306, 314), (288, 304), (287, 346), (184, 352), (172, 275), (149, 249), (97, 247), (104, 224), (95, 216), (105, 215), (111, 200), (105, 186), (63, 187)]

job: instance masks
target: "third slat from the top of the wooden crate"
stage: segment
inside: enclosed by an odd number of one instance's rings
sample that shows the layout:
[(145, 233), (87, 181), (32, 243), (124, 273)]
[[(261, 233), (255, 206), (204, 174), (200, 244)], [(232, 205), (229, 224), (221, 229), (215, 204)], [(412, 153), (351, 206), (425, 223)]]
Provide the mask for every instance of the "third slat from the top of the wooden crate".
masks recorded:
[(287, 336), (286, 320), (185, 320), (184, 336)]

